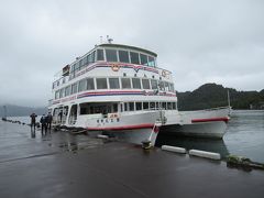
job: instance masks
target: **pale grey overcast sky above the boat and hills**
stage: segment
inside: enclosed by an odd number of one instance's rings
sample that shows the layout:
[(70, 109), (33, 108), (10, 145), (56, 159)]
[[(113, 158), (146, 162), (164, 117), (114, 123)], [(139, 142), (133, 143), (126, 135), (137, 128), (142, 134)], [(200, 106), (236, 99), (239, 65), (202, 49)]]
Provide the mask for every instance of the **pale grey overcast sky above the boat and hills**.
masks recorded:
[(46, 106), (100, 36), (158, 54), (178, 91), (264, 88), (263, 0), (0, 0), (0, 105)]

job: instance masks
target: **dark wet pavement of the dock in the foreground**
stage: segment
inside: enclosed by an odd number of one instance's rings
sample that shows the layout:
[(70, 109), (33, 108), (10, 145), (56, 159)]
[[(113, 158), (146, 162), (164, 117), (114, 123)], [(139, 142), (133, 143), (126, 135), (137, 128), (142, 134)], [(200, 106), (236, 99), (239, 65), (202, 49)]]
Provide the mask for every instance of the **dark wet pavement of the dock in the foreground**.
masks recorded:
[(0, 121), (0, 197), (263, 197), (264, 172)]

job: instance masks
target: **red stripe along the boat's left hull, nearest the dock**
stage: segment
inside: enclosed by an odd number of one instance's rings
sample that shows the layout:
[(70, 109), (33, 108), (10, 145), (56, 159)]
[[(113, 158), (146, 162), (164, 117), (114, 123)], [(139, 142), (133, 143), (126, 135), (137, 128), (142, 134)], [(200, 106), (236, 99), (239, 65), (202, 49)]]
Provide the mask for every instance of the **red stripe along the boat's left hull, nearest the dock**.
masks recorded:
[(121, 125), (121, 127), (109, 127), (109, 128), (87, 128), (90, 131), (121, 131), (121, 130), (135, 130), (135, 129), (152, 129), (153, 123), (144, 123), (136, 125)]

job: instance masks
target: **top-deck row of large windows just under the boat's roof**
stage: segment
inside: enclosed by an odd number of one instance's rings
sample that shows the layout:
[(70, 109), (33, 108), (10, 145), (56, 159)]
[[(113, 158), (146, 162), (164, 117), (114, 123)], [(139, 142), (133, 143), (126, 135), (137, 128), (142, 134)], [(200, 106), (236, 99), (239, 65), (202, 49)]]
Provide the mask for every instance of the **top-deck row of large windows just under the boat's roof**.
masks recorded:
[(76, 73), (96, 61), (131, 63), (151, 67), (156, 66), (154, 56), (123, 50), (99, 48), (72, 65), (70, 73)]

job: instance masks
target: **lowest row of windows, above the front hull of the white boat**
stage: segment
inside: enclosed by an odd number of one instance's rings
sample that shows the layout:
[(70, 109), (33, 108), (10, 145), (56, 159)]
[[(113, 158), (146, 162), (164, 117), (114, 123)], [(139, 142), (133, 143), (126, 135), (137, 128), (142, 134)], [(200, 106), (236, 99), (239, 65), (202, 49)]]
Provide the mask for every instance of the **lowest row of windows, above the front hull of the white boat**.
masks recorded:
[[(142, 102), (142, 101), (129, 101), (120, 105), (120, 111), (141, 111), (141, 110), (155, 110), (155, 109), (165, 109), (165, 110), (176, 110), (176, 102), (167, 102), (167, 101), (151, 101), (151, 102)], [(80, 105), (80, 114), (108, 114), (118, 112), (118, 103), (81, 103)]]

